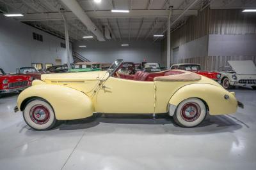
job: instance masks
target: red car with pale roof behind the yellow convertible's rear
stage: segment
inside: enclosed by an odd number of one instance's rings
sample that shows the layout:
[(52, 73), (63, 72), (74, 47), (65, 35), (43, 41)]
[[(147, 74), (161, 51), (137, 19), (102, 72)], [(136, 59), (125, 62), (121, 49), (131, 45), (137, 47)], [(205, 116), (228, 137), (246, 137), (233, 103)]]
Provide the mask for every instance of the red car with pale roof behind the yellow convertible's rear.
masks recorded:
[(211, 78), (215, 81), (218, 81), (221, 77), (221, 74), (216, 71), (201, 71), (200, 64), (173, 64), (171, 69), (183, 69), (186, 71), (192, 71), (196, 74)]

